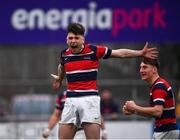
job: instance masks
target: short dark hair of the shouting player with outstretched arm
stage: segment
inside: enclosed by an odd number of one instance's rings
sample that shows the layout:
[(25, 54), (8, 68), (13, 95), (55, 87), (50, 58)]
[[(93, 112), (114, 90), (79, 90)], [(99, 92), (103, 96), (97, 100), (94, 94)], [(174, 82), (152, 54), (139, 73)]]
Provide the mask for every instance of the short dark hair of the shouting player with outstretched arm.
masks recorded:
[(80, 23), (70, 23), (67, 28), (68, 33), (73, 33), (75, 35), (82, 35), (84, 36), (85, 28)]

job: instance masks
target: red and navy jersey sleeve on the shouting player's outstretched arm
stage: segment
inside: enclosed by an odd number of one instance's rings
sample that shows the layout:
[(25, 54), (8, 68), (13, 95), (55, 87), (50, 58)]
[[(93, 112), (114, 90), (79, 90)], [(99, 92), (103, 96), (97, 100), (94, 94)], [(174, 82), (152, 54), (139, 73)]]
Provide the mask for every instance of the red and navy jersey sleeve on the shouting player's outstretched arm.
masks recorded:
[(109, 49), (108, 47), (106, 46), (96, 46), (96, 47), (97, 47), (96, 55), (98, 58), (107, 59), (111, 56), (112, 50)]

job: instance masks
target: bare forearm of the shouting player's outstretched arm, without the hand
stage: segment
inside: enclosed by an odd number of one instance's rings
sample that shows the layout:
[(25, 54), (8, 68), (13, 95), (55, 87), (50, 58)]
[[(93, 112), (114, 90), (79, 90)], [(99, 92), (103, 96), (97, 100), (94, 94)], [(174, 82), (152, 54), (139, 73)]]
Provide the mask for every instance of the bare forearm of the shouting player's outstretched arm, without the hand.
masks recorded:
[(142, 50), (130, 50), (130, 49), (112, 50), (111, 53), (111, 57), (120, 57), (120, 58), (138, 57), (142, 55), (143, 55)]

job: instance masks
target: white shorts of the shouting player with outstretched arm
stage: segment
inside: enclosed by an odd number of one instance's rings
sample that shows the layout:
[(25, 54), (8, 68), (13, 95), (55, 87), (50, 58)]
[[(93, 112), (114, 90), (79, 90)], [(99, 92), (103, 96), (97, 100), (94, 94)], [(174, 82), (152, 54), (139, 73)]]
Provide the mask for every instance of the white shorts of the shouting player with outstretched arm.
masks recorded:
[(80, 126), (83, 122), (101, 124), (99, 96), (66, 99), (60, 123)]

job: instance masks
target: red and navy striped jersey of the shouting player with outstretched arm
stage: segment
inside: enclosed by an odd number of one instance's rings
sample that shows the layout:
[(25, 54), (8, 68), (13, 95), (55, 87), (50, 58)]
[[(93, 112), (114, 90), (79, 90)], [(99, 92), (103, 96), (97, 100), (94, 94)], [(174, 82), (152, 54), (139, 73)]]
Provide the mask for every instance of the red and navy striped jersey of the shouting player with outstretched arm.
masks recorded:
[(98, 95), (97, 73), (99, 59), (109, 58), (111, 49), (85, 44), (80, 53), (70, 49), (61, 52), (61, 65), (67, 78), (67, 97)]

